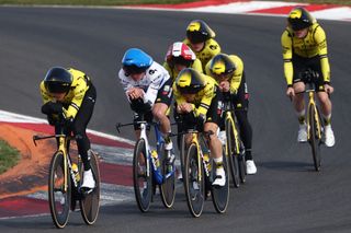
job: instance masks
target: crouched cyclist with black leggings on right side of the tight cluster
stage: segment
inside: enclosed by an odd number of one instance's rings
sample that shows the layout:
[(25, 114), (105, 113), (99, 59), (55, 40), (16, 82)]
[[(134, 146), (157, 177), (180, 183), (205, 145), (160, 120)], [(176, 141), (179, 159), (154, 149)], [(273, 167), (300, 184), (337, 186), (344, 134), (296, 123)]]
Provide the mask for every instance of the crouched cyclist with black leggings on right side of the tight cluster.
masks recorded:
[[(244, 62), (236, 55), (218, 54), (206, 65), (206, 73), (217, 80), (219, 90), (223, 92), (223, 97), (231, 101), (235, 106), (240, 138), (245, 145), (246, 173), (256, 174), (257, 167), (251, 154), (252, 128), (248, 119), (249, 93), (244, 71)], [(225, 116), (223, 116), (222, 119), (223, 127), (224, 117)]]

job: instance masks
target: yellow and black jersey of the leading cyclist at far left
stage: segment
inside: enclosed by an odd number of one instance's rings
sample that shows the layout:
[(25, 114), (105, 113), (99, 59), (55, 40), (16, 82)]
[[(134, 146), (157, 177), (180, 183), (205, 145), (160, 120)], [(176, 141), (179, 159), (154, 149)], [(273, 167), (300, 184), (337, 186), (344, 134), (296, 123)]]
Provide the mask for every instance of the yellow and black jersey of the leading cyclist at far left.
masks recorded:
[[(81, 106), (86, 92), (89, 89), (90, 79), (86, 73), (79, 70), (75, 70), (72, 68), (67, 70), (72, 74), (72, 83), (63, 101), (63, 104), (68, 105), (67, 108), (64, 108), (64, 115), (66, 118), (75, 118)], [(46, 90), (44, 81), (41, 82), (41, 93), (44, 104), (49, 101), (55, 102), (53, 95), (50, 95)]]

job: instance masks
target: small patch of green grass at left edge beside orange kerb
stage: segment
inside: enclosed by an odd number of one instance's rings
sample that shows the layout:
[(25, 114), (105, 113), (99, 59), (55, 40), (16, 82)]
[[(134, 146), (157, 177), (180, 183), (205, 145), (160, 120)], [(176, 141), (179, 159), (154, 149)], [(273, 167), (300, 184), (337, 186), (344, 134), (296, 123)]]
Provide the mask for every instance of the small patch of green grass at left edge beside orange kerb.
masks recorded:
[(20, 161), (20, 152), (0, 140), (0, 174), (4, 173)]

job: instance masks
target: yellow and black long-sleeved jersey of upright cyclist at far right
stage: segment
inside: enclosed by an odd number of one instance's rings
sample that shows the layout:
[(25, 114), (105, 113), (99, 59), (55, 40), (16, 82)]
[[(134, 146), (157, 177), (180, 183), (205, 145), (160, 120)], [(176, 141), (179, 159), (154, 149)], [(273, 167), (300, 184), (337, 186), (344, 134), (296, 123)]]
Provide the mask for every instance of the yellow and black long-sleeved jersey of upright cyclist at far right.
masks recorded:
[(293, 84), (294, 55), (306, 59), (319, 57), (324, 81), (330, 82), (326, 33), (317, 22), (308, 27), (308, 34), (304, 38), (294, 36), (293, 30), (287, 26), (282, 34), (281, 43), (283, 48), (284, 74), (287, 85)]

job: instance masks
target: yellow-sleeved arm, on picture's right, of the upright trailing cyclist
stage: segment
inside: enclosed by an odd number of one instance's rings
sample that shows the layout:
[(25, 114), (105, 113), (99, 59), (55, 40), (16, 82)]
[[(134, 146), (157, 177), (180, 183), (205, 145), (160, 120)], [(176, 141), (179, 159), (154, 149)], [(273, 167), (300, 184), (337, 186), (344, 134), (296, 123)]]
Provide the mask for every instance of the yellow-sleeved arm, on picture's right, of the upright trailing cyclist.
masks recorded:
[(330, 83), (330, 67), (328, 60), (328, 50), (327, 50), (327, 38), (325, 31), (318, 26), (314, 34), (315, 42), (318, 46), (318, 56), (320, 58), (320, 67), (324, 81)]

